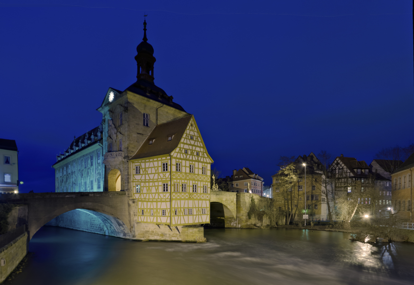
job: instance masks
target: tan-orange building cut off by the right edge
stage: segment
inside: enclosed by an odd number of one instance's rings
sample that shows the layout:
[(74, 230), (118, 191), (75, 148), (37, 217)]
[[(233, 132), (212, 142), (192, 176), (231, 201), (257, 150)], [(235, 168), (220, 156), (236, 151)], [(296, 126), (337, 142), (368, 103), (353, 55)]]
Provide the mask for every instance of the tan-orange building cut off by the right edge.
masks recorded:
[(403, 221), (412, 222), (414, 153), (391, 173), (392, 208)]

